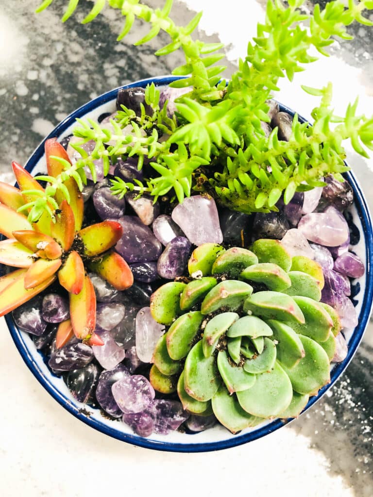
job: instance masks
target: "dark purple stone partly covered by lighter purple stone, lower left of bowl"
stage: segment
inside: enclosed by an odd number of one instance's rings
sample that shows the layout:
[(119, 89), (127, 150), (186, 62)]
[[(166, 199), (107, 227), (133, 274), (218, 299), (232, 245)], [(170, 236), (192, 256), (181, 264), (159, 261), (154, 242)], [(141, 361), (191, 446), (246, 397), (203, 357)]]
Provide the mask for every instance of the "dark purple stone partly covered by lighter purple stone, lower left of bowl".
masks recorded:
[(123, 364), (118, 364), (115, 368), (102, 371), (100, 374), (96, 388), (96, 399), (101, 408), (110, 416), (121, 417), (123, 414), (114, 400), (111, 387), (129, 375), (128, 369)]

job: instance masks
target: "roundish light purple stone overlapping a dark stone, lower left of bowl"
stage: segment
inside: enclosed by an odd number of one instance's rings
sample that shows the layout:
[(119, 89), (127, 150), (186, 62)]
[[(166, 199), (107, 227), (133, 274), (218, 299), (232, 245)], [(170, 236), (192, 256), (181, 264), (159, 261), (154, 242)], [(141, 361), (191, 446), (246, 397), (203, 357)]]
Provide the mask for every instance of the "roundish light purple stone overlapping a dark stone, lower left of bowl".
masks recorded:
[(155, 397), (154, 388), (142, 375), (132, 375), (119, 380), (111, 387), (111, 393), (123, 413), (141, 413)]

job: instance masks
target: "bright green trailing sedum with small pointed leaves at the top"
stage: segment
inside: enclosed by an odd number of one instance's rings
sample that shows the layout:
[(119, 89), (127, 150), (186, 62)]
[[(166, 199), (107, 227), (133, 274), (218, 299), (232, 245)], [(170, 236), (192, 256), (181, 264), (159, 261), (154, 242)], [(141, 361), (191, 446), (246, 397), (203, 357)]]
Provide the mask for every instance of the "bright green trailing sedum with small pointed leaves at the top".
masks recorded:
[[(37, 11), (52, 1), (45, 0)], [(183, 50), (185, 64), (173, 71), (182, 79), (171, 85), (189, 87), (190, 91), (178, 99), (177, 118), (167, 116), (166, 106), (159, 107), (159, 91), (150, 85), (146, 103), (152, 109), (151, 115), (143, 108), (138, 117), (123, 106), (106, 128), (92, 120), (78, 120), (74, 134), (82, 141), (74, 148), (82, 158), (73, 167), (66, 165), (64, 174), (73, 175), (82, 188), (83, 168), (89, 166), (94, 177), (95, 159), (103, 159), (107, 174), (118, 156), (136, 156), (139, 168), (148, 158), (153, 172), (144, 183), (126, 183), (116, 178), (113, 194), (123, 196), (134, 190), (139, 195), (148, 192), (157, 200), (170, 192), (182, 202), (192, 190), (207, 191), (221, 204), (245, 213), (276, 210), (281, 195), (287, 203), (296, 191), (323, 185), (320, 179), (328, 174), (343, 180), (341, 173), (348, 169), (343, 141), (351, 140), (356, 152), (365, 157), (367, 149), (373, 149), (373, 118), (357, 114), (357, 100), (348, 106), (345, 116), (335, 116), (330, 83), (321, 89), (304, 86), (307, 93), (320, 98), (312, 112), (313, 126), (301, 124), (295, 116), (289, 141), (282, 141), (277, 128), (266, 137), (261, 122), (270, 120), (268, 99), (279, 90), (280, 78), (291, 81), (296, 72), (315, 61), (316, 57), (310, 55), (312, 48), (327, 56), (326, 48), (336, 37), (351, 39), (346, 26), (352, 22), (372, 25), (363, 12), (373, 8), (373, 1), (349, 0), (346, 6), (344, 0), (334, 0), (324, 9), (316, 4), (312, 15), (301, 12), (303, 3), (304, 0), (289, 0), (285, 6), (280, 0), (268, 1), (264, 24), (258, 24), (246, 57), (226, 83), (221, 79), (225, 67), (218, 64), (223, 57), (218, 52), (222, 45), (206, 44), (192, 37), (201, 13), (180, 27), (169, 15), (172, 0), (166, 0), (163, 9), (152, 9), (140, 0), (96, 0), (83, 23), (92, 21), (105, 6), (118, 9), (125, 16), (118, 39), (130, 31), (136, 19), (150, 26), (136, 45), (165, 31), (170, 43), (155, 55)], [(63, 21), (78, 4), (79, 0), (69, 1)], [(80, 145), (90, 140), (96, 147), (87, 154)], [(55, 187), (60, 184), (61, 181), (55, 182)], [(35, 204), (41, 206), (48, 199), (36, 199)], [(36, 205), (30, 213), (31, 220), (35, 221), (35, 213), (40, 211)]]

